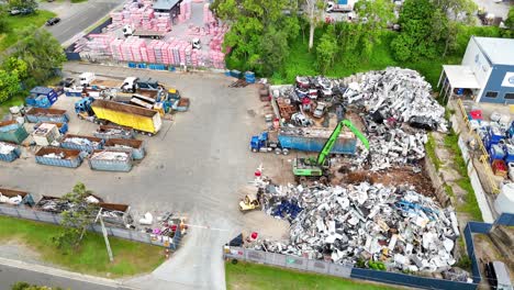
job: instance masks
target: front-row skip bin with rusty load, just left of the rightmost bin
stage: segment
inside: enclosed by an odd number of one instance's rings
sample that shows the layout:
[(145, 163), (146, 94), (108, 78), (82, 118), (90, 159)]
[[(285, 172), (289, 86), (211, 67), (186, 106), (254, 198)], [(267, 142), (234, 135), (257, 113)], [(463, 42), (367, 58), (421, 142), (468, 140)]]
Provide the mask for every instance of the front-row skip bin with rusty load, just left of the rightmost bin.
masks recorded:
[(37, 164), (77, 168), (82, 164), (80, 150), (43, 147), (35, 154)]

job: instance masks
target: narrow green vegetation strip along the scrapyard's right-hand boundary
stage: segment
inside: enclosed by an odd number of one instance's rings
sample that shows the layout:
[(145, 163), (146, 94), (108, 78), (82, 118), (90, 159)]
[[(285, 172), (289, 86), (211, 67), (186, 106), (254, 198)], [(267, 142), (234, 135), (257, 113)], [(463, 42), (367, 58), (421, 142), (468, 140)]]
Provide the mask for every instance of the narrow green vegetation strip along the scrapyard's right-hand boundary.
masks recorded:
[(461, 178), (457, 180), (457, 185), (466, 191), (465, 203), (458, 207), (458, 210), (468, 213), (474, 221), (482, 221), (482, 212), (478, 205), (477, 197), (474, 196), (474, 190), (468, 176), (468, 166), (460, 152), (458, 141), (459, 136), (454, 131), (445, 136), (445, 146), (451, 153), (454, 168), (461, 176)]

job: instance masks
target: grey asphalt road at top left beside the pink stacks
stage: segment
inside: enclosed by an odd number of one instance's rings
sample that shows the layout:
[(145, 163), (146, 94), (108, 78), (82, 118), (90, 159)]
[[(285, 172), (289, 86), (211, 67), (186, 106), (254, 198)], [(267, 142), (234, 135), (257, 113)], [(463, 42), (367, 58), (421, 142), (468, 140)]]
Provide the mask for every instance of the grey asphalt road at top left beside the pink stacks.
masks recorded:
[(63, 44), (101, 20), (122, 2), (122, 0), (89, 0), (81, 3), (55, 1), (42, 2), (40, 9), (49, 10), (62, 19), (60, 23), (46, 29)]

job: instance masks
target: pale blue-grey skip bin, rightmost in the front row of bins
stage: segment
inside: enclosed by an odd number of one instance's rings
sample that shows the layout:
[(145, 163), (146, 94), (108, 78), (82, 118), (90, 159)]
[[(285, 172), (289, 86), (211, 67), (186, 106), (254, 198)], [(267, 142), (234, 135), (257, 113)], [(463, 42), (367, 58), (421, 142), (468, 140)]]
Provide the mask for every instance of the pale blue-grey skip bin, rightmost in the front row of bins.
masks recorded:
[(88, 161), (93, 170), (128, 172), (132, 170), (132, 150), (93, 150)]

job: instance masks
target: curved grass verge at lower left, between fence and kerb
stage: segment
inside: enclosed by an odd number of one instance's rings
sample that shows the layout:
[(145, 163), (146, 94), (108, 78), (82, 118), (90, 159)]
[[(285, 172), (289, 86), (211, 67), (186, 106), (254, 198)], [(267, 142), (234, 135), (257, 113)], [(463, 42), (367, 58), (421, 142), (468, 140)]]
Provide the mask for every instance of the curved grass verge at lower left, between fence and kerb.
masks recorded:
[(44, 261), (72, 271), (116, 278), (149, 272), (164, 261), (161, 247), (110, 237), (111, 264), (103, 237), (94, 233), (88, 233), (74, 254), (65, 255), (52, 243), (60, 231), (58, 225), (0, 216), (0, 242), (16, 241), (40, 253)]

